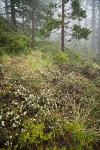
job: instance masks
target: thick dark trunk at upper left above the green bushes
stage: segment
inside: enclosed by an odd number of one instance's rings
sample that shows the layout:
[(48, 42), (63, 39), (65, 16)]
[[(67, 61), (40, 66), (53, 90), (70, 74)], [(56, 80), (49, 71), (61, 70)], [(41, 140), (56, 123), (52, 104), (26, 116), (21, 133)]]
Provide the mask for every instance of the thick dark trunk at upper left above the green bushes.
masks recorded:
[(16, 28), (15, 0), (10, 0), (10, 4), (11, 4), (11, 22)]

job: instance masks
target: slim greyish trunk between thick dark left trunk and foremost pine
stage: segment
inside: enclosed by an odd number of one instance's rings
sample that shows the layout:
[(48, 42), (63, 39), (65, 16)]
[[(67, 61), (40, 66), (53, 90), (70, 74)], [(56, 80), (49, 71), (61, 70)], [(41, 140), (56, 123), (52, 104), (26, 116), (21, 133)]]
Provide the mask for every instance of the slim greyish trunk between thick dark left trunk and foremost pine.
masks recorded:
[(35, 8), (32, 10), (32, 48), (34, 49), (34, 40), (35, 40)]

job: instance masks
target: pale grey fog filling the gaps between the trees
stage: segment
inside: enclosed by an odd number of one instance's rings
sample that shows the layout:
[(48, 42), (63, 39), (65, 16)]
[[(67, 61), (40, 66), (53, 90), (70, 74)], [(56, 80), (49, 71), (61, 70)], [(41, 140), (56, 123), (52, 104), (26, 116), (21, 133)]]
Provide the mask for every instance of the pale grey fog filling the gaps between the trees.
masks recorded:
[[(34, 1), (34, 2), (33, 2)], [(42, 11), (43, 9), (49, 9), (51, 11), (51, 17), (55, 20), (61, 20), (62, 7), (60, 0), (38, 0), (40, 4), (37, 4), (35, 0), (30, 1), (17, 1), (15, 0), (15, 19), (17, 21), (17, 28), (19, 31), (24, 31), (24, 34), (30, 36), (32, 30), (32, 19), (31, 19), (31, 10), (33, 5), (35, 10), (34, 16), (34, 27), (37, 27), (37, 30), (40, 28), (44, 28), (44, 24), (46, 21), (44, 19), (38, 18), (38, 16), (43, 16), (44, 18), (50, 17), (50, 14), (47, 14), (48, 11)], [(33, 3), (32, 3), (33, 2)], [(84, 0), (81, 1), (81, 7), (83, 10), (86, 10), (86, 18), (76, 18), (72, 19), (68, 15), (72, 12), (70, 7), (72, 1), (69, 1), (64, 4), (64, 9), (67, 10), (64, 12), (66, 18), (64, 20), (64, 42), (65, 45), (71, 46), (72, 48), (76, 48), (77, 50), (81, 49), (81, 47), (85, 47), (90, 49), (93, 53), (100, 52), (100, 0)], [(49, 5), (55, 4), (55, 7), (49, 7)], [(0, 0), (0, 15), (11, 19), (11, 0)], [(70, 8), (70, 9), (69, 9)], [(23, 11), (24, 10), (24, 11)], [(25, 12), (26, 11), (26, 12)], [(40, 11), (40, 12), (39, 12)], [(28, 15), (29, 14), (29, 15)], [(40, 20), (41, 19), (41, 20)], [(47, 19), (46, 19), (47, 20)], [(68, 23), (69, 22), (69, 23)], [(44, 24), (43, 24), (44, 23)], [(67, 26), (68, 23), (68, 26)], [(91, 31), (91, 34), (87, 39), (81, 38), (80, 40), (77, 38), (72, 38), (72, 28), (73, 25), (77, 24), (81, 27), (85, 27)], [(57, 25), (56, 25), (57, 26)], [(28, 31), (29, 30), (29, 31)], [(35, 33), (34, 33), (35, 34)], [(36, 33), (37, 35), (38, 33)], [(61, 40), (61, 26), (54, 27), (49, 31), (49, 36), (45, 39), (50, 42), (60, 42)], [(40, 39), (40, 37), (36, 36), (36, 39)]]

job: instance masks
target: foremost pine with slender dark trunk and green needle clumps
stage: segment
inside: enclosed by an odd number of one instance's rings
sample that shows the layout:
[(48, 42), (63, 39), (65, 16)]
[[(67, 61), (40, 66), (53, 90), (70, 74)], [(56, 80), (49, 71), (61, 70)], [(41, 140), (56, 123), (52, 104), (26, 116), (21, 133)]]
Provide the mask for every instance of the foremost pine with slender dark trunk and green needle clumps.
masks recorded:
[(86, 17), (86, 11), (81, 8), (80, 0), (61, 0), (58, 4), (53, 5), (56, 9), (58, 7), (61, 13), (58, 14), (58, 18), (56, 19), (52, 17), (52, 22), (49, 22), (49, 24), (47, 22), (47, 27), (50, 26), (49, 31), (61, 28), (61, 51), (64, 51), (66, 33), (76, 39), (87, 39), (90, 34), (87, 28), (82, 28), (81, 25), (70, 24), (72, 20), (82, 20)]

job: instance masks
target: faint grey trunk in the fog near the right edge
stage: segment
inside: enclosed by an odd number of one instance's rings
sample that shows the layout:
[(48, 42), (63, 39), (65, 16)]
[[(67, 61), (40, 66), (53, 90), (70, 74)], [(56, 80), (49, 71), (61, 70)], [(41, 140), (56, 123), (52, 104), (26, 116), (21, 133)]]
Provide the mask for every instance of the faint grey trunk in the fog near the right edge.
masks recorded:
[(95, 0), (92, 0), (92, 49), (95, 50)]

